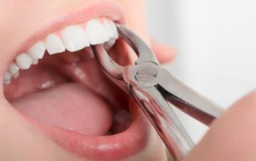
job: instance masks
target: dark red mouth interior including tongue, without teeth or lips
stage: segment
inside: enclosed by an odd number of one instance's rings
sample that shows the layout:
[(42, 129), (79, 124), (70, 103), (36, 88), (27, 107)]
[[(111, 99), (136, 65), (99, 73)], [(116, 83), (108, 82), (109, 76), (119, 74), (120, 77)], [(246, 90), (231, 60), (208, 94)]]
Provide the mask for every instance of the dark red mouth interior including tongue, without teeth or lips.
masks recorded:
[[(109, 52), (123, 65), (122, 46), (118, 40)], [(29, 119), (84, 135), (114, 135), (131, 122), (126, 93), (106, 77), (90, 48), (46, 53), (5, 85), (4, 95)]]

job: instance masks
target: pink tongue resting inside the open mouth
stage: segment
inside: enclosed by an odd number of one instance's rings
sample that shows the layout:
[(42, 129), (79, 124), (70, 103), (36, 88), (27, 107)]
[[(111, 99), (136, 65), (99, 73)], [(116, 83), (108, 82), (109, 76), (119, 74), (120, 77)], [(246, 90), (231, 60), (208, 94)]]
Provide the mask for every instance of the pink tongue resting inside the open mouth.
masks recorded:
[(85, 135), (105, 135), (113, 113), (102, 97), (82, 84), (62, 84), (12, 102), (26, 115)]

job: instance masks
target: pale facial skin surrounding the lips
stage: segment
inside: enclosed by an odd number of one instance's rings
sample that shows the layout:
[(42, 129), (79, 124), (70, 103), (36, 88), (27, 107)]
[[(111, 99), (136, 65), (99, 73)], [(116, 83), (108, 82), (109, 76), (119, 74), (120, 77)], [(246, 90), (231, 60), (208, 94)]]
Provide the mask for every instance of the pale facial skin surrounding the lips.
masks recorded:
[[(90, 5), (93, 0), (46, 0), (22, 1), (4, 0), (0, 2), (0, 75), (3, 76), (15, 50), (26, 37), (62, 14), (78, 10), (82, 6)], [(150, 44), (150, 37), (146, 30), (146, 18), (143, 1), (119, 0), (118, 2), (126, 17), (126, 24), (138, 33), (144, 41)], [(70, 24), (71, 25), (71, 24)], [(38, 40), (37, 40), (38, 41)], [(158, 53), (160, 45), (154, 43)], [(164, 53), (174, 53), (172, 49), (163, 46)], [(173, 54), (162, 54), (159, 59), (170, 60)], [(2, 86), (0, 90), (3, 90)], [(24, 119), (5, 99), (0, 96), (0, 160), (84, 160), (59, 146), (42, 132), (38, 132), (33, 124)], [(146, 120), (144, 118), (144, 120)], [(133, 160), (165, 160), (166, 152), (160, 139), (153, 130), (150, 131), (150, 147), (132, 156)]]

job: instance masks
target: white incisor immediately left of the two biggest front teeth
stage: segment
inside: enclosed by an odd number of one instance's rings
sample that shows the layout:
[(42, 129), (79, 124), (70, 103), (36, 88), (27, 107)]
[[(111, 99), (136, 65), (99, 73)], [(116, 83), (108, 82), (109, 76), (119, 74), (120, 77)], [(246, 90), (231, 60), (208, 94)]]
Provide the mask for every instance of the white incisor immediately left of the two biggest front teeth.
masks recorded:
[(65, 51), (65, 46), (63, 45), (62, 40), (54, 35), (50, 34), (46, 37), (46, 49), (48, 53), (54, 54), (54, 53), (62, 53)]

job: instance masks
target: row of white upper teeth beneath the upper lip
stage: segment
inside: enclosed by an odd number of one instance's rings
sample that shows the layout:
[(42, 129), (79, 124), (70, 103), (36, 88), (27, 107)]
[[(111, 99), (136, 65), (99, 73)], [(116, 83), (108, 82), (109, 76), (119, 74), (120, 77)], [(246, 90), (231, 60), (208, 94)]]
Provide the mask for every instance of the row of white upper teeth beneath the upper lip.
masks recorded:
[(46, 50), (51, 54), (63, 53), (65, 50), (75, 52), (90, 45), (106, 43), (110, 48), (118, 39), (118, 30), (114, 22), (103, 19), (93, 19), (86, 24), (66, 26), (61, 32), (50, 33), (44, 41), (38, 41), (27, 50), (20, 53), (10, 64), (4, 77), (4, 84), (10, 84), (12, 78), (17, 78), (19, 69), (29, 69), (38, 64)]

